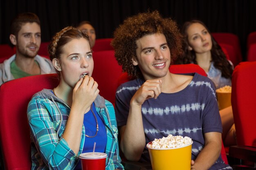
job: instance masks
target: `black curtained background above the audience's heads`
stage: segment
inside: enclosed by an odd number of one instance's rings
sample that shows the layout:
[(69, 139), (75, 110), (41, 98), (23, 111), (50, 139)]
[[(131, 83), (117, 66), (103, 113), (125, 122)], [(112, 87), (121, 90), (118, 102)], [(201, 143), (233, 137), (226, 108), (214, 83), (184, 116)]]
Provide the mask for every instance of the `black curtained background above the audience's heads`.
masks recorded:
[(0, 44), (9, 43), (11, 20), (21, 12), (33, 12), (41, 21), (42, 42), (65, 26), (89, 20), (97, 38), (112, 38), (125, 18), (158, 10), (182, 24), (202, 20), (211, 32), (238, 35), (243, 56), (250, 32), (256, 31), (256, 0), (0, 0)]

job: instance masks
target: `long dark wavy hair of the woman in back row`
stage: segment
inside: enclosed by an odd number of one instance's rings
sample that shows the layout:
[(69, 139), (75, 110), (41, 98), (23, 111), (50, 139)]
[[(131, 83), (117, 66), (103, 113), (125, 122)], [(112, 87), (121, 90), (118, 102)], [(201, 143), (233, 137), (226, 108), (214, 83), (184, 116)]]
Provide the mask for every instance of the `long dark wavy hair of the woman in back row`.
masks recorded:
[[(202, 24), (210, 33), (207, 26), (200, 20), (191, 20), (191, 21), (185, 22), (182, 26), (182, 31), (181, 31), (182, 34), (184, 35), (184, 43), (183, 43), (184, 54), (177, 58), (177, 60), (175, 61), (175, 64), (190, 64), (190, 63), (198, 64), (195, 60), (196, 59), (195, 51), (189, 50), (189, 42), (188, 42), (188, 34), (187, 34), (187, 30), (189, 26), (191, 26), (191, 24), (194, 24), (194, 23)], [(216, 42), (216, 40), (214, 40), (212, 35), (211, 35), (211, 41), (212, 41), (211, 58), (212, 58), (214, 67), (221, 71), (222, 77), (231, 79), (232, 73), (233, 73), (233, 66), (227, 60), (226, 55), (222, 51), (220, 45)]]

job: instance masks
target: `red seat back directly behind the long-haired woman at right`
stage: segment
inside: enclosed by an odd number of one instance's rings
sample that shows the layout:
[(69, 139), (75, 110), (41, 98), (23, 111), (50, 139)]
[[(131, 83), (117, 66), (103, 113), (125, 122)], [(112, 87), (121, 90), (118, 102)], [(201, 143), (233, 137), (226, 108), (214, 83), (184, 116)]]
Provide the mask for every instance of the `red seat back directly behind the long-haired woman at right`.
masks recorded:
[(229, 44), (233, 46), (236, 57), (231, 58), (231, 56), (229, 56), (229, 58), (234, 66), (242, 62), (243, 57), (241, 53), (239, 38), (237, 35), (233, 33), (211, 33), (211, 35), (218, 42), (218, 44)]

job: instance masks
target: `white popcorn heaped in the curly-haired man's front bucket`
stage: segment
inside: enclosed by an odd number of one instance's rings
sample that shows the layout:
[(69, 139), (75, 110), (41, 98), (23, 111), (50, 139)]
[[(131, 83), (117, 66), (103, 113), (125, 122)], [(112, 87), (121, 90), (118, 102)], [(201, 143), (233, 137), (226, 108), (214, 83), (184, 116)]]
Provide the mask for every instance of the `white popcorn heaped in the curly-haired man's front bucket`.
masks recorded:
[(192, 139), (190, 137), (168, 135), (161, 139), (155, 139), (152, 144), (149, 144), (149, 147), (156, 149), (177, 148), (191, 144), (191, 142)]

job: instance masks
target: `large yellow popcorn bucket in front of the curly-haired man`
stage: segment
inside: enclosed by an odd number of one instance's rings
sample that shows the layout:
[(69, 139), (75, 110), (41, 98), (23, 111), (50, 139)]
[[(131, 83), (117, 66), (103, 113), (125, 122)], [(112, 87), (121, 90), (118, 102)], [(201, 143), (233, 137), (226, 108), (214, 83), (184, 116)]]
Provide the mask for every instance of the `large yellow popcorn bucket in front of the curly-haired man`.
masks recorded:
[(149, 142), (147, 148), (150, 155), (150, 161), (153, 170), (190, 170), (191, 169), (191, 150), (192, 144), (178, 147), (157, 149), (150, 148)]

